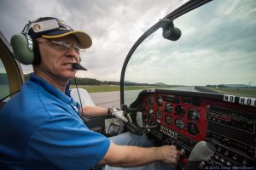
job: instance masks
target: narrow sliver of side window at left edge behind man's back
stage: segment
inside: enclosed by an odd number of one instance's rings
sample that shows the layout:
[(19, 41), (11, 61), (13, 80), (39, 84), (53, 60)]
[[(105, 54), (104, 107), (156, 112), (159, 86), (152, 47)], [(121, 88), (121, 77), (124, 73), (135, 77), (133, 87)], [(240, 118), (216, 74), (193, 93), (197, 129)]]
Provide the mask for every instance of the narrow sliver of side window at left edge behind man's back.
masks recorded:
[(4, 97), (8, 96), (9, 93), (9, 81), (6, 69), (3, 65), (2, 59), (0, 59), (0, 99), (3, 99)]

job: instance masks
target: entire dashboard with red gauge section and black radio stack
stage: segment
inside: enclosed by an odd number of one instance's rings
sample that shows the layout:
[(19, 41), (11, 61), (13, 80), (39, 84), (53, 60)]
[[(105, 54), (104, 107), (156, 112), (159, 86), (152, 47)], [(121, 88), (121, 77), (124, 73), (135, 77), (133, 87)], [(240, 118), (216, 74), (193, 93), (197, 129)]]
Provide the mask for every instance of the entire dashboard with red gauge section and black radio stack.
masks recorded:
[(182, 150), (177, 169), (183, 169), (199, 141), (216, 147), (213, 164), (255, 166), (256, 107), (239, 104), (239, 97), (234, 97), (234, 102), (225, 99), (223, 94), (145, 90), (131, 108), (143, 108), (148, 137), (159, 145), (175, 144)]

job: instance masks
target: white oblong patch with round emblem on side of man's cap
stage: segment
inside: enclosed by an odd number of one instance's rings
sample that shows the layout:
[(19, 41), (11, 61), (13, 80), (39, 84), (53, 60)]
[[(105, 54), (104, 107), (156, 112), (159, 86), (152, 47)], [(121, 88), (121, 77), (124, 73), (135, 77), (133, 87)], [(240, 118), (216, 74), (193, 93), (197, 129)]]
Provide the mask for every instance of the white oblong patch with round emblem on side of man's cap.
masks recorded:
[(41, 22), (32, 23), (32, 29), (34, 32), (49, 31), (55, 28), (59, 28), (56, 20), (44, 20)]

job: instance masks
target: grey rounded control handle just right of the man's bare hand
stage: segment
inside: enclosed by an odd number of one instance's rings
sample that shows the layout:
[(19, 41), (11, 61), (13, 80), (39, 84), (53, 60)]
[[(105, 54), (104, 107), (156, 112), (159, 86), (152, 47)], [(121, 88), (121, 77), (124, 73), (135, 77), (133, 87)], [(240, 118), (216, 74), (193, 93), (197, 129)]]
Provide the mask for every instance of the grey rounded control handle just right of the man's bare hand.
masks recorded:
[(184, 167), (184, 170), (196, 170), (201, 164), (201, 161), (208, 161), (215, 151), (215, 147), (207, 143), (206, 141), (201, 141), (195, 144), (195, 147), (190, 153), (189, 162)]

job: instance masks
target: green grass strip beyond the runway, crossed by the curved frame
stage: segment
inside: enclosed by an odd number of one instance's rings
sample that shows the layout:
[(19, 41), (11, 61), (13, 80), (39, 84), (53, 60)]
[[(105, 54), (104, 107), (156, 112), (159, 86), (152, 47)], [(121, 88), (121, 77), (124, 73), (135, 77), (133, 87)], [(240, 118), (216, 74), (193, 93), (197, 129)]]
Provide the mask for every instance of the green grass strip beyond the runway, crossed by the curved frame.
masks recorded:
[[(75, 88), (74, 85), (71, 88)], [(119, 91), (119, 86), (109, 86), (109, 85), (79, 85), (79, 88), (84, 88), (88, 91), (88, 93), (97, 93), (97, 92), (113, 92)], [(147, 88), (166, 88), (165, 86), (125, 86), (125, 90), (139, 90), (139, 89), (147, 89)]]

